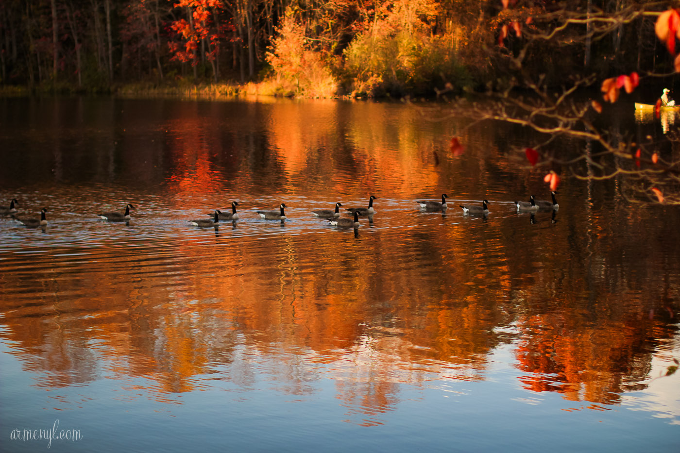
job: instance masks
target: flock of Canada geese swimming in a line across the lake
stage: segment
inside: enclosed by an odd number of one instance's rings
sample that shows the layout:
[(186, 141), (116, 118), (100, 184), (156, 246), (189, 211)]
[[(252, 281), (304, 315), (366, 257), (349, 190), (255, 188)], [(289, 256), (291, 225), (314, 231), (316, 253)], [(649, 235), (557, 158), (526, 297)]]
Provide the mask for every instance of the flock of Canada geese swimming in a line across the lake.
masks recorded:
[[(517, 207), (517, 212), (537, 212), (539, 210), (544, 210), (544, 211), (556, 211), (557, 209), (560, 208), (560, 205), (557, 203), (557, 199), (555, 197), (557, 192), (553, 191), (551, 192), (551, 197), (552, 201), (542, 201), (539, 200), (537, 201), (534, 199), (534, 196), (531, 195), (529, 197), (529, 201), (514, 201), (513, 203)], [(418, 205), (420, 206), (421, 209), (425, 209), (427, 211), (443, 211), (445, 212), (446, 209), (448, 209), (448, 205), (446, 203), (446, 199), (449, 196), (446, 194), (441, 195), (441, 202), (440, 201), (416, 201)], [(352, 227), (358, 227), (359, 226), (359, 216), (371, 216), (375, 210), (373, 209), (373, 200), (377, 200), (377, 197), (371, 195), (369, 198), (369, 205), (368, 207), (350, 207), (347, 208), (347, 213), (350, 214), (350, 218), (341, 218), (340, 217), (340, 207), (342, 207), (342, 203), (338, 202), (335, 203), (335, 209), (319, 209), (317, 211), (312, 211), (311, 214), (313, 214), (316, 217), (319, 218), (326, 218), (328, 219), (328, 223), (331, 225), (337, 225), (337, 227), (342, 227), (342, 228), (352, 228)], [(47, 218), (45, 216), (46, 212), (48, 210), (44, 207), (40, 211), (40, 218), (28, 218), (28, 219), (23, 219), (23, 218), (17, 218), (16, 217), (16, 205), (18, 205), (19, 202), (16, 199), (12, 199), (10, 202), (9, 206), (0, 206), (0, 215), (12, 215), (20, 224), (24, 225), (24, 227), (27, 228), (37, 228), (37, 227), (46, 227), (47, 226)], [(488, 200), (483, 200), (481, 202), (481, 206), (479, 205), (459, 205), (463, 213), (469, 216), (486, 216), (489, 212), (489, 207), (488, 207), (489, 201)], [(199, 220), (188, 220), (188, 222), (192, 225), (195, 225), (196, 227), (218, 227), (220, 224), (220, 220), (237, 220), (239, 218), (239, 214), (236, 212), (236, 207), (239, 205), (237, 201), (233, 201), (231, 203), (231, 212), (222, 212), (219, 209), (214, 212), (214, 216), (212, 218), (205, 218), (205, 219), (199, 219)], [(125, 211), (124, 212), (102, 212), (101, 214), (97, 214), (100, 218), (103, 220), (107, 220), (109, 222), (127, 222), (130, 220), (130, 209), (134, 209), (135, 207), (131, 204), (128, 204), (125, 206)], [(286, 213), (284, 212), (284, 209), (286, 208), (285, 203), (281, 203), (279, 205), (279, 210), (278, 211), (256, 211), (257, 214), (260, 215), (261, 218), (266, 219), (266, 220), (286, 220)]]

